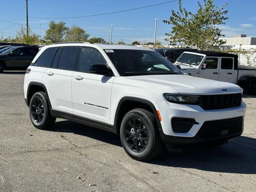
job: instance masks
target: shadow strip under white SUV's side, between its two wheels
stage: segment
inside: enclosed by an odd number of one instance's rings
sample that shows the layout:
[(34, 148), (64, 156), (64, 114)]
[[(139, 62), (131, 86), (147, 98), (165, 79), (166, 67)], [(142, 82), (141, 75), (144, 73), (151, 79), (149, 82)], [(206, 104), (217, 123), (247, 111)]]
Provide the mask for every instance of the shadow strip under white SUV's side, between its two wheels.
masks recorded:
[(105, 143), (122, 146), (120, 136), (117, 134), (68, 120), (55, 122), (54, 126), (49, 131), (78, 134)]

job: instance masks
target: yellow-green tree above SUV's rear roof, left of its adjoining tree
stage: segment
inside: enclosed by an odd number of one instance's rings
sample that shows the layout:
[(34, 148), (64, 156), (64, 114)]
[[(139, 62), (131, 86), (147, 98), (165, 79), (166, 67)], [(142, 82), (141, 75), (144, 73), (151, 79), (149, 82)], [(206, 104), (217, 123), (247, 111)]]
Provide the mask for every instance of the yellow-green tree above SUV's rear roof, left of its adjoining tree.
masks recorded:
[(58, 23), (55, 23), (55, 21), (50, 21), (49, 29), (46, 31), (44, 38), (50, 43), (64, 42), (68, 29), (69, 28), (66, 26), (64, 21)]

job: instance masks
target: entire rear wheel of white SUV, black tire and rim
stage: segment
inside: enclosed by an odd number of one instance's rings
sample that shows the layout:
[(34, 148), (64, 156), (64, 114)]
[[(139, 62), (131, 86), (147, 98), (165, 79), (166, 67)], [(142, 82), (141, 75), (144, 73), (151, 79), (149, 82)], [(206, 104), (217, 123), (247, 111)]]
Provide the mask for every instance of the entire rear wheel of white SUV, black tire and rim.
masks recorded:
[(42, 130), (50, 129), (56, 121), (52, 117), (45, 92), (36, 92), (29, 104), (29, 115), (32, 124)]

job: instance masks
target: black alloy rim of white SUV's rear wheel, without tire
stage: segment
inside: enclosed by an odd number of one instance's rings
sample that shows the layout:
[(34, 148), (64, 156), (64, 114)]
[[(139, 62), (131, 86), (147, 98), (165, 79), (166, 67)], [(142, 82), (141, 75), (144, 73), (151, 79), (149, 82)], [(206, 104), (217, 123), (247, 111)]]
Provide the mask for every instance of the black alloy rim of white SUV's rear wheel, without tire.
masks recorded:
[(33, 101), (31, 113), (36, 123), (42, 122), (44, 118), (44, 105), (41, 98), (36, 98)]

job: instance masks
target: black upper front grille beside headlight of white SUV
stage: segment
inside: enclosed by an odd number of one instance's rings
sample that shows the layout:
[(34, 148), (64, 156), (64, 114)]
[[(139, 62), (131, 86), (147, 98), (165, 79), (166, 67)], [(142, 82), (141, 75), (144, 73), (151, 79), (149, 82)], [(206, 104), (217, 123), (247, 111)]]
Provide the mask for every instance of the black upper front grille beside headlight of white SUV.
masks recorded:
[(241, 105), (241, 102), (241, 93), (201, 96), (201, 107), (205, 110), (237, 107)]

